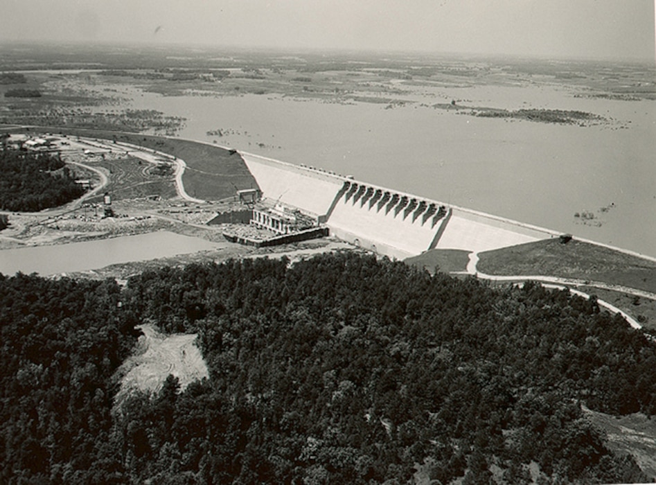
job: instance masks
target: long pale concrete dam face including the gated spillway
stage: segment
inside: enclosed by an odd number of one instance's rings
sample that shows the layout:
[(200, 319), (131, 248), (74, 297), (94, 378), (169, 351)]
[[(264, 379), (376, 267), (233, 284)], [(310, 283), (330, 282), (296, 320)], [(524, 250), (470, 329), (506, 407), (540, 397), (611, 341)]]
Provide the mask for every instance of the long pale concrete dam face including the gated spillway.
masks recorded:
[(393, 258), (429, 249), (482, 252), (558, 236), (352, 177), (239, 153), (265, 200), (311, 213), (337, 238)]

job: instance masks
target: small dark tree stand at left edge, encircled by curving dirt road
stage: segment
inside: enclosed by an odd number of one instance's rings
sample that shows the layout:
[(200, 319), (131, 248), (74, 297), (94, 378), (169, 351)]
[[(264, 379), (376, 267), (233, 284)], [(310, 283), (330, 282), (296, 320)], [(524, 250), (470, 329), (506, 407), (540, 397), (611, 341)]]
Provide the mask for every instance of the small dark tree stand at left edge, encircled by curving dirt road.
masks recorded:
[(41, 211), (85, 193), (59, 155), (5, 148), (0, 168), (0, 209), (5, 211)]

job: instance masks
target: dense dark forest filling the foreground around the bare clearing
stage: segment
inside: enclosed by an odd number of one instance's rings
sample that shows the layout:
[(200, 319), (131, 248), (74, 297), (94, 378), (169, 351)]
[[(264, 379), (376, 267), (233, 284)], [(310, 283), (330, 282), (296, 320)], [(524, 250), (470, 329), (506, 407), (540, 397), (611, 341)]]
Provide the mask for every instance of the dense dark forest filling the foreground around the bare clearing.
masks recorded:
[[(114, 403), (143, 321), (210, 377)], [(648, 481), (582, 407), (654, 414), (653, 335), (567, 290), (323, 254), (4, 276), (0, 323), (3, 483)]]

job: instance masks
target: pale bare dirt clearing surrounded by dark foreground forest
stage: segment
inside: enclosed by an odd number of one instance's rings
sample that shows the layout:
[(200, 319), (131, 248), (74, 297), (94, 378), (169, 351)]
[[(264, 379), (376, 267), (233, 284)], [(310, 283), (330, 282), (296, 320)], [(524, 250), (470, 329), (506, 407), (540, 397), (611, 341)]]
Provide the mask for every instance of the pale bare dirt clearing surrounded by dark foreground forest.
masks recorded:
[(136, 353), (119, 369), (123, 378), (118, 401), (133, 389), (159, 391), (169, 374), (179, 379), (180, 389), (209, 376), (200, 349), (195, 344), (195, 333), (166, 335), (150, 324), (138, 328), (143, 335), (137, 342)]

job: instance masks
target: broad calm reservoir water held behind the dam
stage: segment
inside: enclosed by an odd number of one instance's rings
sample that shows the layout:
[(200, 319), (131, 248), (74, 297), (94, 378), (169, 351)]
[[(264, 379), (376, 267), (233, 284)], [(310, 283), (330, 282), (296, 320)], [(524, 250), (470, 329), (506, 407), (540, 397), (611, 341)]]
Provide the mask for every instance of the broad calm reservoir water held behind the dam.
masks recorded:
[[(401, 96), (414, 103), (385, 109), (279, 95), (143, 93), (132, 107), (184, 116), (184, 138), (335, 170), (656, 256), (656, 101), (574, 94), (555, 85), (422, 88)], [(420, 105), (451, 99), (506, 109), (576, 109), (610, 123), (477, 118)], [(235, 133), (206, 135), (227, 128)], [(574, 216), (583, 212), (594, 220)]]

